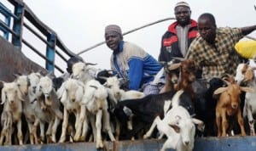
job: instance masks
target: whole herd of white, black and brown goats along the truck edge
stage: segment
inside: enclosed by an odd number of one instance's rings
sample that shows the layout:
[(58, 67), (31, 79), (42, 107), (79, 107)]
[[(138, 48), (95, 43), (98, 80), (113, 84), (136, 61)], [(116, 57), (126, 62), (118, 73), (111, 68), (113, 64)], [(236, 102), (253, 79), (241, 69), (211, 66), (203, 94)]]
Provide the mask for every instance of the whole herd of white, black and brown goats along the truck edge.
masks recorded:
[(195, 137), (255, 135), (255, 68), (249, 64), (239, 64), (236, 76), (207, 81), (207, 87), (195, 78), (193, 60), (172, 60), (161, 70), (165, 86), (148, 96), (122, 89), (116, 76), (95, 78), (90, 70), (96, 69), (74, 64), (73, 75), (58, 88), (40, 72), (2, 81), (0, 145), (94, 141), (103, 148), (103, 140), (166, 137), (161, 150), (192, 151)]

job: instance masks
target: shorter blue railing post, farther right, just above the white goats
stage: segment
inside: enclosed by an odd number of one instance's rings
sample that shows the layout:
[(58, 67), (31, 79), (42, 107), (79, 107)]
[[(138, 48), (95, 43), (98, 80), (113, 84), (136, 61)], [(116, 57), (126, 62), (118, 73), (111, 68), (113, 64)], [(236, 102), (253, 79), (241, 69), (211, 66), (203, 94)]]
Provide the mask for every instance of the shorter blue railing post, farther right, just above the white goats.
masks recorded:
[(54, 34), (50, 34), (47, 37), (47, 41), (50, 43), (50, 46), (47, 45), (46, 48), (46, 58), (51, 61), (46, 61), (45, 68), (49, 71), (52, 71), (54, 73), (55, 71), (55, 44), (56, 44), (56, 36)]

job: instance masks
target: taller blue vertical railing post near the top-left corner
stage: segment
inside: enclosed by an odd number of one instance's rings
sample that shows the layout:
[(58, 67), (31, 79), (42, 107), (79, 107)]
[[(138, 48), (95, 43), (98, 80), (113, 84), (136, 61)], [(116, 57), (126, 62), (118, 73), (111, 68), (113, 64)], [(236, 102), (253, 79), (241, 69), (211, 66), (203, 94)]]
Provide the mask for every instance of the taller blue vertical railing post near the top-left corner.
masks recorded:
[(18, 36), (12, 36), (12, 43), (15, 45), (15, 48), (21, 49), (21, 40), (22, 40), (22, 25), (23, 25), (23, 16), (24, 16), (24, 7), (17, 3), (15, 6), (15, 13), (14, 13), (19, 20), (14, 19), (13, 31)]

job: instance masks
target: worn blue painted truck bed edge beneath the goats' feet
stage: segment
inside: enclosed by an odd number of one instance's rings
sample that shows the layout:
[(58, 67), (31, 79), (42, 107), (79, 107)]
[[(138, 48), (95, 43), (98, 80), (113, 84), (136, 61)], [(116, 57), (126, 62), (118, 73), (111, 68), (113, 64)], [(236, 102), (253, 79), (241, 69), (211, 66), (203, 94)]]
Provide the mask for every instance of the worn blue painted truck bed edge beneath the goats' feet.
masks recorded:
[[(109, 151), (157, 151), (165, 140), (116, 141), (104, 143)], [(95, 143), (55, 143), (45, 145), (3, 146), (4, 151), (95, 151)], [(255, 151), (256, 137), (205, 137), (195, 139), (193, 151)], [(168, 149), (167, 151), (173, 151)]]

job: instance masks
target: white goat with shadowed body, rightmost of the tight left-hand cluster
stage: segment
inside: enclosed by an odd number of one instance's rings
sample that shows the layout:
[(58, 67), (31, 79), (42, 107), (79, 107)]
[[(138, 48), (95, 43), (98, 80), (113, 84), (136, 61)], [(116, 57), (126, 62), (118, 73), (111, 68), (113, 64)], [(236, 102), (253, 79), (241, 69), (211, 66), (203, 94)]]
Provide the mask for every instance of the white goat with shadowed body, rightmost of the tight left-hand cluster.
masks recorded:
[(44, 124), (49, 123), (46, 135), (51, 137), (53, 143), (56, 142), (55, 133), (60, 120), (63, 115), (60, 110), (60, 101), (58, 100), (55, 89), (53, 88), (52, 80), (48, 76), (40, 78), (37, 87), (37, 105), (36, 116), (37, 119), (32, 128), (32, 132), (35, 132), (38, 124), (40, 124), (40, 137), (44, 140)]

